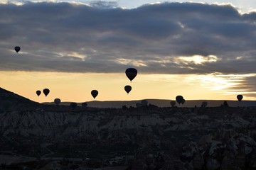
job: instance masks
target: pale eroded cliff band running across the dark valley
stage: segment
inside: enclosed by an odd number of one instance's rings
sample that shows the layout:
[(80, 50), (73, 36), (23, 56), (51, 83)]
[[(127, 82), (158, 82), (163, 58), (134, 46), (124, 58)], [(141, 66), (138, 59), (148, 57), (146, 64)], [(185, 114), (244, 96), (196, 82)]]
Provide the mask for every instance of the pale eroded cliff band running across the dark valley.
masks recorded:
[[(54, 108), (54, 107), (53, 107)], [(58, 108), (56, 108), (58, 109)], [(201, 112), (201, 113), (198, 113)], [(239, 129), (255, 125), (253, 111), (242, 108), (159, 108), (158, 111), (124, 112), (122, 109), (80, 109), (80, 111), (8, 111), (0, 114), (2, 136), (98, 134), (101, 130), (146, 130), (160, 133), (178, 131), (208, 131), (218, 128)], [(247, 113), (246, 113), (247, 112)]]

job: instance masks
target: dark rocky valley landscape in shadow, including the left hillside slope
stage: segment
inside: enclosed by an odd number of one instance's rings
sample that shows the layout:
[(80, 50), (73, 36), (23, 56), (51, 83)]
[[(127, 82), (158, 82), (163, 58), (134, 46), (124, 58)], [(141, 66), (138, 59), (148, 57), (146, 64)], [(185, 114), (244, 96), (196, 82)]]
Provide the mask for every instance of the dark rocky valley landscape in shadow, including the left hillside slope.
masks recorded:
[(254, 107), (73, 109), (0, 97), (0, 169), (256, 169)]

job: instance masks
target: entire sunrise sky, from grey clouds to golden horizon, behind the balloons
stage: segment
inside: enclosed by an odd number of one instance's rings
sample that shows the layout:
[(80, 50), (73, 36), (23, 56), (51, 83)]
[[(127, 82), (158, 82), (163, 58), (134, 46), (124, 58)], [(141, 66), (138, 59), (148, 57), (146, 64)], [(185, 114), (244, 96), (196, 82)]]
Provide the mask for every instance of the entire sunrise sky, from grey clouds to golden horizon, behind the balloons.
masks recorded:
[(255, 2), (0, 0), (0, 86), (38, 102), (94, 89), (98, 101), (255, 100)]

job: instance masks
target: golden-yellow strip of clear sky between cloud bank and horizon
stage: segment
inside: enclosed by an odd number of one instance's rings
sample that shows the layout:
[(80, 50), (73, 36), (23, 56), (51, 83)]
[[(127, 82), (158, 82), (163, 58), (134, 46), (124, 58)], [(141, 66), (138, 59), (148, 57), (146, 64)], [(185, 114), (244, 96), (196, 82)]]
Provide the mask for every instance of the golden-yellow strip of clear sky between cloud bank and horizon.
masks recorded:
[[(1, 88), (40, 103), (53, 102), (55, 98), (94, 101), (90, 94), (94, 89), (99, 91), (95, 101), (174, 100), (177, 95), (186, 100), (236, 100), (241, 91), (228, 89), (242, 83), (242, 75), (227, 79), (213, 74), (137, 74), (132, 82), (124, 73), (0, 72), (0, 77)], [(132, 86), (128, 95), (124, 91), (126, 85)], [(43, 94), (45, 88), (50, 89), (47, 97)], [(36, 95), (37, 90), (42, 91), (40, 96)], [(242, 91), (245, 100), (249, 100), (247, 93)]]

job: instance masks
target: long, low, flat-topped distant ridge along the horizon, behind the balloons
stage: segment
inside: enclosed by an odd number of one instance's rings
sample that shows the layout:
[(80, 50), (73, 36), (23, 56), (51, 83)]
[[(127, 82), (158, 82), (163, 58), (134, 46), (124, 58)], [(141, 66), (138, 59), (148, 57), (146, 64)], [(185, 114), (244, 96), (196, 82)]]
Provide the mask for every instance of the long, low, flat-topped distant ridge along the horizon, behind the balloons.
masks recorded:
[[(88, 107), (97, 107), (97, 108), (122, 108), (122, 106), (133, 106), (136, 107), (136, 103), (140, 103), (142, 100), (136, 100), (136, 101), (87, 101)], [(153, 104), (159, 107), (170, 107), (170, 101), (171, 100), (164, 100), (164, 99), (146, 99), (149, 104)], [(176, 106), (178, 107), (201, 107), (201, 104), (203, 101), (206, 101), (208, 103), (209, 107), (218, 107), (223, 104), (224, 101), (220, 100), (191, 100), (186, 101), (183, 105), (176, 103)], [(231, 107), (248, 107), (253, 106), (256, 107), (256, 101), (227, 101), (228, 105)], [(43, 103), (43, 104), (54, 104), (51, 103)], [(62, 102), (61, 105), (70, 105), (70, 102)], [(81, 103), (78, 103), (78, 106), (81, 106)]]

